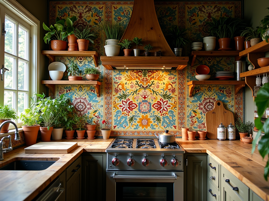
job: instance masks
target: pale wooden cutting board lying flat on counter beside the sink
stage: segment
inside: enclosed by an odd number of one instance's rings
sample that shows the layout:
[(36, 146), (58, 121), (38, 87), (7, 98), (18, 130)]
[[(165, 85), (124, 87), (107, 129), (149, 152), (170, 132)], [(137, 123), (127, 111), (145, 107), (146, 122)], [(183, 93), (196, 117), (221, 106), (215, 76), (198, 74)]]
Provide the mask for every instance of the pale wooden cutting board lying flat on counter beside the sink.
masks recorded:
[(39, 142), (24, 148), (25, 153), (67, 154), (77, 147), (76, 142)]

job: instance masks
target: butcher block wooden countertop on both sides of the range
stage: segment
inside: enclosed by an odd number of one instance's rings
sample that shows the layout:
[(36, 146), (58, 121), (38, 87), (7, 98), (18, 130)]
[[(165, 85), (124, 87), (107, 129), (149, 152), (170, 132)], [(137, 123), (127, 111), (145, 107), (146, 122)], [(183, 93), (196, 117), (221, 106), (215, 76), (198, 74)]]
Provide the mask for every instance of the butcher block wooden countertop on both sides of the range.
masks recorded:
[[(112, 140), (112, 138), (108, 140), (60, 140), (60, 142), (78, 143), (78, 147), (68, 154), (25, 154), (25, 146), (5, 153), (4, 160), (0, 161), (0, 167), (16, 159), (23, 159), (25, 157), (27, 157), (26, 159), (30, 157), (36, 160), (56, 159), (57, 162), (49, 168), (40, 171), (0, 170), (0, 201), (32, 200), (75, 161), (83, 151), (104, 152)], [(263, 161), (257, 149), (251, 155), (252, 144), (244, 144), (239, 140), (176, 140), (185, 149), (186, 153), (207, 153), (262, 199), (269, 200), (269, 182), (266, 182), (263, 178), (264, 166), (267, 159)]]

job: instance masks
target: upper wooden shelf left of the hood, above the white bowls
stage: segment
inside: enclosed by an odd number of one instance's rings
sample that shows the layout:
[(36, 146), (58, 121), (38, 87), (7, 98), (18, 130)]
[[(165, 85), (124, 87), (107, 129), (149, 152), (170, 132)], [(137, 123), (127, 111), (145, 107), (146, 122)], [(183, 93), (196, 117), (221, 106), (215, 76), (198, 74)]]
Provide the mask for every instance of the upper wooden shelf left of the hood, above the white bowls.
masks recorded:
[(54, 62), (55, 57), (92, 57), (94, 66), (98, 66), (98, 53), (96, 51), (53, 51), (44, 50), (41, 52), (49, 58), (49, 61)]

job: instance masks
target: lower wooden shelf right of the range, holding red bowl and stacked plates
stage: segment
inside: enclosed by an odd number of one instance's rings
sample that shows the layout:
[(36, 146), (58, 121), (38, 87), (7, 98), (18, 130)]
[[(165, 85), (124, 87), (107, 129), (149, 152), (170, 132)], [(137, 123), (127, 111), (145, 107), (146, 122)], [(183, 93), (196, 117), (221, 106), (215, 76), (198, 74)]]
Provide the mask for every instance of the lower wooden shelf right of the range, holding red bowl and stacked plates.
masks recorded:
[(245, 81), (237, 81), (237, 80), (193, 80), (187, 83), (189, 86), (189, 97), (192, 97), (192, 91), (195, 85), (235, 85), (235, 94), (238, 91), (245, 87)]

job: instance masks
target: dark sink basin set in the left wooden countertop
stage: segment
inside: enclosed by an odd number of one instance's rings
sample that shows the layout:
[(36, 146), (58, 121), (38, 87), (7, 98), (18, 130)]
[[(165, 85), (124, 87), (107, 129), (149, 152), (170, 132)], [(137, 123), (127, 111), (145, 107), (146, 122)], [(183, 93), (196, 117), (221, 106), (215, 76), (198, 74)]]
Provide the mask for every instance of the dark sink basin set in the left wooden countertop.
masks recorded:
[(56, 161), (17, 160), (8, 163), (0, 170), (45, 170)]

